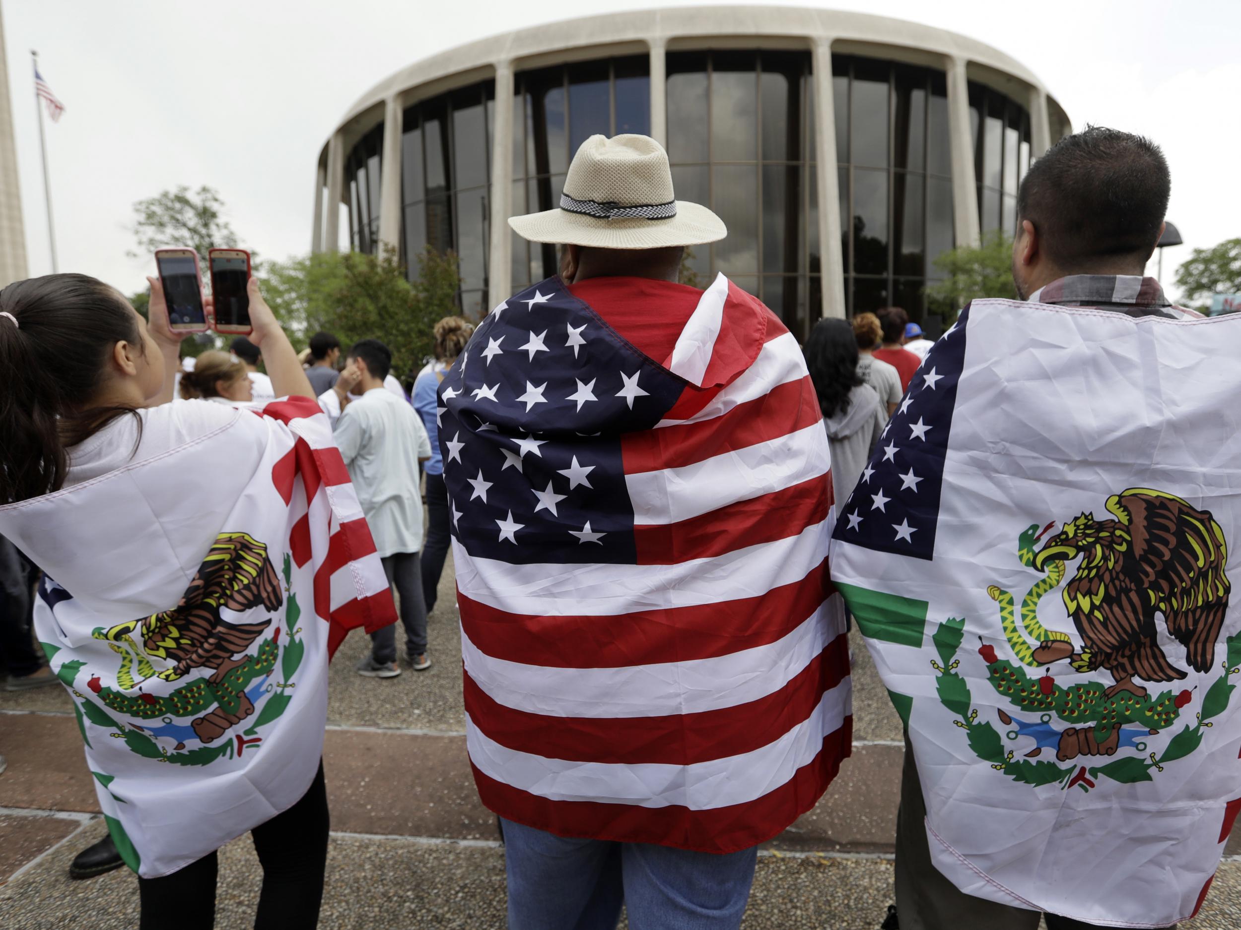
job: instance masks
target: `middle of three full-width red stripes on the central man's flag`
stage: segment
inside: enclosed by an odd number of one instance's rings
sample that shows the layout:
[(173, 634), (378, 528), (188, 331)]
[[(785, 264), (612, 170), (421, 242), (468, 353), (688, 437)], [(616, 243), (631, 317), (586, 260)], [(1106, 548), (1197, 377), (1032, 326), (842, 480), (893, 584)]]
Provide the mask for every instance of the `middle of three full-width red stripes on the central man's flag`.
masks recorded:
[(849, 642), (840, 634), (783, 688), (717, 711), (664, 717), (546, 717), (498, 703), (463, 672), (465, 713), (500, 745), (547, 759), (640, 765), (692, 765), (751, 753), (814, 712), (823, 694), (849, 677)]

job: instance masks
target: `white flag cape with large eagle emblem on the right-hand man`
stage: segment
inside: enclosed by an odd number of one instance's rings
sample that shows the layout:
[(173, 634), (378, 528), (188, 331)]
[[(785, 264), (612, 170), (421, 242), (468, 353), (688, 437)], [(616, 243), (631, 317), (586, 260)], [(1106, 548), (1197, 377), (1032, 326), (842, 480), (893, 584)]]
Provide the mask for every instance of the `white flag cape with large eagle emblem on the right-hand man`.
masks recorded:
[(1112, 926), (1205, 898), (1241, 807), (1239, 357), (1241, 316), (974, 301), (840, 508), (963, 892)]

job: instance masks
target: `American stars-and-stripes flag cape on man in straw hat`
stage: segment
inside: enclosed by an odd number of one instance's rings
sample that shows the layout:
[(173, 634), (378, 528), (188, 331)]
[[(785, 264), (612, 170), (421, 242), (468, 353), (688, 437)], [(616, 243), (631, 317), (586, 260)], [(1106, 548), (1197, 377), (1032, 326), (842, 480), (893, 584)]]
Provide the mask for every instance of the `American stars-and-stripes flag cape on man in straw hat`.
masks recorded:
[(660, 365), (551, 278), (439, 397), (483, 802), (715, 853), (813, 806), (850, 750), (849, 656), (827, 434), (772, 312), (720, 275)]

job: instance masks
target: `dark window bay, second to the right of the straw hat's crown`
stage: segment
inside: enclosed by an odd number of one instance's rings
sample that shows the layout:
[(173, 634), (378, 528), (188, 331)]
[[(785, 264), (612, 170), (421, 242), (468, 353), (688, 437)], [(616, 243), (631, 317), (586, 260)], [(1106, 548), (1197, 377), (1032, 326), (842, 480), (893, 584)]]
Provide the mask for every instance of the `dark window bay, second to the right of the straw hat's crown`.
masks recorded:
[(831, 84), (849, 312), (896, 305), (937, 335), (925, 289), (954, 244), (944, 74), (834, 55)]

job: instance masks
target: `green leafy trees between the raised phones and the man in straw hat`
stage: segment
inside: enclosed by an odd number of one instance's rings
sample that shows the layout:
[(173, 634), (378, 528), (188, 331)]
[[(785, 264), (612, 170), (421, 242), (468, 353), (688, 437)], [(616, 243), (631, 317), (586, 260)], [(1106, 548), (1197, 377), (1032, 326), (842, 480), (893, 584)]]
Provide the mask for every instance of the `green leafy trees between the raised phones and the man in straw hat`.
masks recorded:
[(379, 255), (320, 252), (271, 263), (263, 295), (294, 345), (331, 332), (341, 345), (377, 339), (392, 350), (392, 373), (408, 378), (432, 351), (432, 329), (458, 314), (457, 257), (428, 248), (411, 283), (397, 250)]

